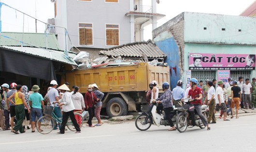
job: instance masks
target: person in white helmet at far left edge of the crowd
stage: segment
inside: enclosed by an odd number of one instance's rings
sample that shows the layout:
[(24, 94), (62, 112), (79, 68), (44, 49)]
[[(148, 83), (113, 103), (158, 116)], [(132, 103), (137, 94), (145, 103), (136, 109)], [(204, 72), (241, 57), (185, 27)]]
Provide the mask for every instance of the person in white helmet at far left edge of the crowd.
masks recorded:
[(10, 112), (8, 110), (9, 104), (8, 104), (8, 98), (7, 98), (7, 93), (9, 92), (9, 84), (3, 83), (1, 87), (3, 90), (3, 99), (4, 99), (3, 113), (5, 118), (5, 122), (4, 122), (5, 128), (3, 130), (10, 130)]

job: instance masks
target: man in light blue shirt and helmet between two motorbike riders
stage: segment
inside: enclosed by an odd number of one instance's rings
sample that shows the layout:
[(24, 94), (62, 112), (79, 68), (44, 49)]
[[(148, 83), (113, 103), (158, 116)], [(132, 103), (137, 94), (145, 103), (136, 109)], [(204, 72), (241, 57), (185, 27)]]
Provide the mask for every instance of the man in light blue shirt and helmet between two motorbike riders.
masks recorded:
[(179, 102), (185, 97), (185, 91), (181, 88), (182, 84), (183, 82), (179, 80), (177, 86), (172, 90), (175, 107), (178, 107)]

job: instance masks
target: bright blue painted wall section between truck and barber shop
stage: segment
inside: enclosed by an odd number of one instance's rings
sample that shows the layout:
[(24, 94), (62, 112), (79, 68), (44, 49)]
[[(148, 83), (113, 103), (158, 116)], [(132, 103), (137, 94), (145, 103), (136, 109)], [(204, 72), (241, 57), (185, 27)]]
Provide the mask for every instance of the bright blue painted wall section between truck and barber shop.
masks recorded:
[[(169, 35), (170, 37), (170, 35)], [(180, 69), (179, 69), (179, 52), (178, 46), (174, 41), (173, 37), (162, 39), (157, 41), (154, 39), (156, 45), (167, 55), (165, 63), (170, 67), (170, 83), (171, 89), (175, 88), (177, 82), (180, 80)]]

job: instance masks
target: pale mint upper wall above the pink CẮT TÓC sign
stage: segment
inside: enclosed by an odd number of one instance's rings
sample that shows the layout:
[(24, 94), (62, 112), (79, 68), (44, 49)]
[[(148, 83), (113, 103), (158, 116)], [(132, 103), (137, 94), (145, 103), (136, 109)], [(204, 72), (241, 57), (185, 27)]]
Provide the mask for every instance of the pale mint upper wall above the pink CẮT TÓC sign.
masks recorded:
[(192, 12), (184, 18), (186, 43), (256, 44), (256, 18)]

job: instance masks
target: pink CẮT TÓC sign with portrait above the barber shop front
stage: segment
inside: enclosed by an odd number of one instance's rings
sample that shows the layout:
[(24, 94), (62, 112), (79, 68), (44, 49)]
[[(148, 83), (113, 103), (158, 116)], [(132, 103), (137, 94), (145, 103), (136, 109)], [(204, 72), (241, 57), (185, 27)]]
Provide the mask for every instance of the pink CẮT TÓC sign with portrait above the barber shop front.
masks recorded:
[(198, 70), (252, 70), (255, 55), (189, 54), (189, 69)]

